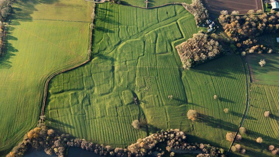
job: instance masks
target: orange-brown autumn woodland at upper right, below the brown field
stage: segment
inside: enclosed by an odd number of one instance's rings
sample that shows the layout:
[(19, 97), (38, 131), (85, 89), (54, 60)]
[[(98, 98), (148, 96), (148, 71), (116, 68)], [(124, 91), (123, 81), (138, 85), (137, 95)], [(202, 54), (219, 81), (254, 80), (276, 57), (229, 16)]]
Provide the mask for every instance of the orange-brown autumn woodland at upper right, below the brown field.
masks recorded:
[(228, 11), (221, 11), (218, 20), (225, 32), (236, 43), (236, 46), (246, 53), (271, 53), (264, 45), (258, 43), (257, 37), (263, 34), (279, 32), (279, 13), (264, 13), (258, 10), (248, 11), (249, 15), (239, 16), (238, 11), (230, 15)]

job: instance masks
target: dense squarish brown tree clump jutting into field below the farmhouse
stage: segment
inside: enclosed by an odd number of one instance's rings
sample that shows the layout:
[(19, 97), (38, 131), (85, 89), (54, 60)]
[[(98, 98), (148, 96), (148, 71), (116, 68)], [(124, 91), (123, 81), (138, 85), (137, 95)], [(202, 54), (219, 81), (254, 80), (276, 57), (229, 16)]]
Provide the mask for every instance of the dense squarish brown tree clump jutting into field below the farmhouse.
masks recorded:
[(184, 68), (214, 59), (222, 53), (222, 46), (208, 35), (198, 33), (176, 46)]

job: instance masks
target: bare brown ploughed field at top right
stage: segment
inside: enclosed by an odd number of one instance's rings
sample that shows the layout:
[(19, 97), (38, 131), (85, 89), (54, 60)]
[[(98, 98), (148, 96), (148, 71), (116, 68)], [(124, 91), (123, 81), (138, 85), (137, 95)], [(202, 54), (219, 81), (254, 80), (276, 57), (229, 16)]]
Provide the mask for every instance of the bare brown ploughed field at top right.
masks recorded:
[(206, 9), (212, 14), (220, 14), (220, 11), (239, 11), (246, 14), (249, 10), (259, 10), (262, 8), (261, 0), (202, 0)]

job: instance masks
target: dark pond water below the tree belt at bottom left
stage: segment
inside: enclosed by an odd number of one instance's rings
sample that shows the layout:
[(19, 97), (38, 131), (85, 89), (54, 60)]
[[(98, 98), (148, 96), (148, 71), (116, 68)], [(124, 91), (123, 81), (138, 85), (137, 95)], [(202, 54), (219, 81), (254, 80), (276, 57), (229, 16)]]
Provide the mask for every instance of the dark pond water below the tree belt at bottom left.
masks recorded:
[[(33, 151), (31, 154), (27, 154), (24, 157), (51, 157), (51, 156), (56, 156), (56, 155), (55, 154), (47, 155), (45, 151), (40, 150), (40, 151)], [(68, 157), (100, 157), (100, 155), (94, 152), (83, 150), (81, 148), (70, 148)]]

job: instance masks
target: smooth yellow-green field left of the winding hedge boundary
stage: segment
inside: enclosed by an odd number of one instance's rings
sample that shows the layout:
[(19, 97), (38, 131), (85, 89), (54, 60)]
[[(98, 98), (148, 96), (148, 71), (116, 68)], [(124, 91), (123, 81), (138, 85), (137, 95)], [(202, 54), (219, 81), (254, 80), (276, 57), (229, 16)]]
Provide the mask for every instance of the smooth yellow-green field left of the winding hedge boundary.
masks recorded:
[(38, 123), (47, 79), (87, 60), (92, 3), (18, 0), (13, 10), (0, 57), (1, 156)]

